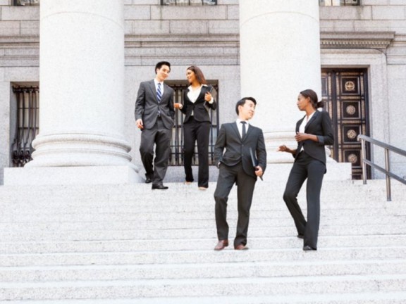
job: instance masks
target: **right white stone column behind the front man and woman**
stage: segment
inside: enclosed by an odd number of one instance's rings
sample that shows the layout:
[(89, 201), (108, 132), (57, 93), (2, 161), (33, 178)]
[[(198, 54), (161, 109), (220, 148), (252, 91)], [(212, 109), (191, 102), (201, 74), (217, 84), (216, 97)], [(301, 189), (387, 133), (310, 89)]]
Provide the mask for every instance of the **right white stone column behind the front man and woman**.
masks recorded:
[(240, 0), (241, 94), (258, 101), (253, 124), (264, 130), (269, 163), (293, 162), (296, 106), (304, 89), (321, 98), (319, 2)]

